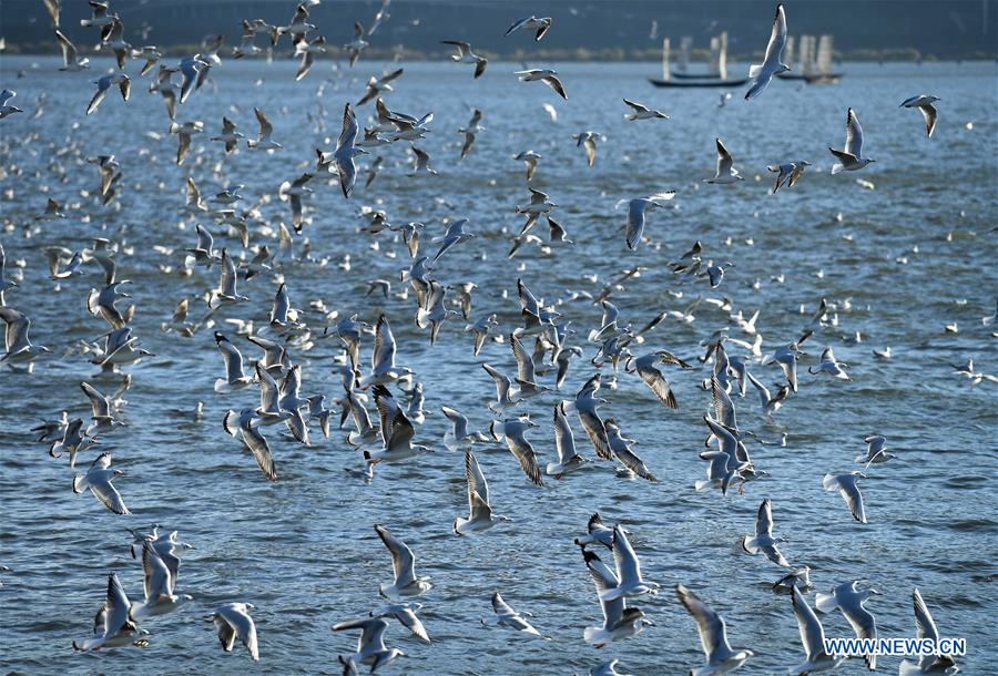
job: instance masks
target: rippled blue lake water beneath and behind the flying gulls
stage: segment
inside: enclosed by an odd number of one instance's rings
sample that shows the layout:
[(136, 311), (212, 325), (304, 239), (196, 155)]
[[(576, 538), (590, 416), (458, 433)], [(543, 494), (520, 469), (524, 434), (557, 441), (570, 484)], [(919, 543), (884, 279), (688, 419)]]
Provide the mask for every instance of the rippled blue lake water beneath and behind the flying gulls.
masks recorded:
[[(752, 103), (734, 91), (724, 107), (717, 105), (716, 90), (652, 88), (646, 76), (656, 75), (656, 64), (558, 66), (568, 101), (540, 83), (518, 83), (511, 74), (518, 64), (491, 63), (478, 81), (467, 65), (404, 64), (406, 72), (387, 101), (394, 110), (435, 113), (432, 132), (420, 145), (432, 155), (439, 175), (407, 176), (409, 155), (399, 144), (378, 148), (385, 151), (385, 170), (370, 190), (364, 188), (361, 170), (350, 201), (335, 183), (313, 181), (315, 193), (305, 198), (312, 223), (303, 235), (312, 243), (313, 260), (286, 262), (279, 275), (241, 285), (252, 303), (223, 310), (215, 327), (255, 359), (258, 350), (223, 319), (265, 326), (281, 276), (298, 307), (308, 309), (310, 301), (323, 299), (329, 309), (360, 313), (371, 324), (386, 313), (398, 340), (397, 363), (420, 375), (432, 411), (417, 428), (417, 441), (436, 452), (379, 465), (367, 484), (344, 472), (360, 463), (343, 434), (326, 441), (315, 426), (312, 449), (295, 442), (283, 426), (266, 428), (281, 479), (264, 479), (221, 426), (226, 409), (255, 404), (255, 389), (224, 397), (213, 391), (223, 369), (212, 330), (181, 338), (159, 328), (185, 296), (192, 297), (192, 316), (200, 317), (203, 301), (193, 298), (217, 285), (217, 272), (180, 274), (182, 253), (164, 257), (153, 247), (182, 252), (195, 244), (194, 222), (181, 211), (189, 175), (205, 197), (218, 184), (245, 184), (247, 205), (271, 197), (261, 206), (268, 224), (287, 221), (287, 205), (276, 199), (278, 184), (314, 164), (314, 147), (335, 145), (344, 103), (356, 102), (367, 76), (387, 64), (361, 59), (353, 71), (335, 72), (329, 61), (320, 60), (295, 83), (294, 62), (225, 61), (214, 69), (214, 82), (177, 113), (179, 121), (202, 120), (206, 127), (177, 167), (176, 139), (167, 133), (164, 106), (145, 91), (147, 79), (138, 79), (136, 64), (129, 66), (135, 76), (131, 101), (112, 92), (94, 115), (83, 115), (93, 92), (90, 81), (110, 63), (92, 61), (86, 73), (58, 72), (51, 58), (8, 55), (0, 61), (0, 84), (16, 89), (13, 103), (28, 111), (0, 122), (8, 270), (14, 270), (17, 260), (27, 262), (21, 288), (8, 291), (7, 303), (27, 313), (32, 338), (54, 350), (38, 360), (30, 376), (0, 375), (0, 563), (11, 569), (0, 587), (4, 672), (339, 673), (336, 655), (353, 651), (356, 635), (332, 634), (330, 625), (366, 615), (381, 603), (378, 584), (391, 581), (387, 551), (371, 528), (384, 523), (413, 546), (417, 572), (435, 585), (419, 600), (434, 644), (419, 644), (404, 628), (390, 627), (389, 645), (409, 656), (386, 673), (572, 674), (612, 657), (621, 659), (627, 673), (684, 673), (703, 655), (695, 625), (672, 592), (675, 583), (694, 590), (726, 618), (734, 646), (757, 653), (742, 673), (784, 673), (803, 662), (790, 597), (770, 590), (780, 570), (740, 546), (765, 496), (773, 500), (775, 533), (790, 541), (783, 552), (791, 563), (812, 566), (816, 591), (866, 581), (884, 593), (867, 605), (880, 636), (913, 636), (910, 595), (918, 586), (941, 634), (966, 637), (969, 654), (958, 660), (965, 673), (989, 672), (998, 602), (998, 388), (991, 382), (971, 388), (949, 365), (974, 357), (978, 369), (998, 371), (996, 329), (981, 325), (981, 317), (994, 313), (998, 293), (995, 64), (846, 64), (847, 75), (838, 85), (774, 82)], [(17, 78), (21, 70), (24, 76)], [(262, 82), (255, 83), (257, 79)], [(326, 79), (318, 98), (316, 90)], [(900, 101), (921, 92), (941, 98), (931, 140), (925, 137), (917, 111), (898, 109)], [(41, 94), (47, 96), (43, 113), (32, 117)], [(664, 110), (671, 120), (625, 123), (624, 96)], [(554, 105), (557, 122), (541, 109), (543, 102)], [(325, 133), (316, 130), (319, 103)], [(458, 163), (464, 136), (457, 129), (468, 121), (466, 104), (483, 111), (487, 129)], [(221, 131), (223, 115), (254, 136), (255, 105), (269, 116), (283, 151), (262, 155), (243, 146), (225, 156), (220, 144), (207, 141)], [(827, 146), (842, 147), (848, 106), (863, 123), (866, 153), (878, 162), (859, 173), (832, 176)], [(371, 112), (373, 104), (359, 114), (363, 119)], [(571, 139), (587, 130), (607, 136), (591, 170)], [(701, 183), (713, 173), (715, 136), (734, 154), (743, 183)], [(509, 237), (522, 224), (513, 207), (529, 198), (523, 165), (511, 156), (527, 148), (543, 155), (534, 183), (560, 205), (556, 218), (576, 244), (550, 256), (525, 247), (508, 260)], [(96, 170), (82, 158), (98, 154), (116, 155), (122, 167), (120, 198), (109, 207), (83, 195), (93, 192)], [(794, 160), (814, 166), (793, 190), (770, 194), (765, 166)], [(858, 185), (857, 178), (875, 188)], [(614, 209), (615, 203), (664, 188), (678, 195), (670, 208), (649, 214), (645, 233), (652, 242), (637, 253), (628, 250), (624, 212)], [(65, 219), (34, 221), (47, 196), (64, 203)], [(442, 445), (446, 421), (439, 407), (457, 408), (472, 426), (485, 428), (495, 390), (479, 363), (509, 372), (515, 366), (506, 344), (488, 342), (475, 358), (462, 320), (447, 322), (431, 348), (428, 334), (414, 326), (411, 294), (407, 300), (364, 297), (369, 279), (391, 279), (393, 291), (404, 288), (398, 273), (408, 267), (409, 257), (389, 233), (357, 231), (361, 205), (384, 208), (396, 224), (426, 223), (420, 250), (429, 253), (435, 250), (429, 239), (442, 234), (444, 218), (470, 218), (469, 229), (479, 238), (449, 252), (435, 276), (446, 284), (478, 284), (472, 315), (498, 313), (500, 332), (519, 321), (517, 277), (554, 303), (568, 299), (569, 291), (597, 294), (634, 265), (648, 269), (611, 298), (622, 322), (634, 327), (661, 310), (685, 307), (697, 295), (727, 296), (746, 316), (761, 309), (757, 326), (766, 352), (796, 338), (823, 297), (839, 306), (838, 326), (805, 345), (800, 392), (777, 413), (787, 444), (750, 445), (754, 462), (770, 475), (747, 483), (744, 494), (732, 491), (722, 498), (717, 491), (693, 490), (706, 464), (697, 453), (705, 434), (701, 418), (710, 406), (710, 395), (700, 389), (707, 368), (666, 371), (678, 411), (665, 410), (640, 379), (621, 373), (618, 389), (601, 392), (610, 400), (603, 414), (615, 417), (624, 434), (640, 441), (637, 451), (661, 483), (620, 479), (610, 463), (592, 463), (538, 489), (525, 480), (505, 447), (479, 445), (493, 508), (512, 521), (458, 539), (450, 524), (467, 512), (462, 457)], [(208, 218), (203, 223), (216, 246), (240, 249), (235, 236)], [(537, 229), (544, 228), (541, 223)], [(134, 283), (134, 335), (156, 355), (125, 369), (133, 376), (124, 411), (128, 427), (100, 439), (113, 452), (114, 467), (128, 472), (116, 485), (131, 516), (112, 514), (90, 494), (73, 494), (67, 459), (49, 458), (29, 432), (41, 418), (57, 417), (64, 408), (71, 417), (89, 417), (81, 380), (108, 393), (115, 387), (114, 380), (92, 379), (95, 367), (89, 357), (73, 352), (78, 341), (106, 330), (85, 310), (89, 289), (102, 284), (100, 269), (88, 266), (84, 276), (62, 281), (55, 290), (42, 253), (57, 244), (78, 250), (94, 236), (128, 245), (130, 255), (120, 255), (119, 264), (120, 276)], [(256, 232), (251, 239), (277, 250), (275, 239)], [(704, 259), (736, 264), (716, 290), (704, 280), (680, 285), (665, 266), (696, 239), (703, 242)], [(339, 265), (347, 255), (348, 270)], [(160, 265), (172, 272), (160, 272)], [(777, 275), (783, 283), (774, 279)], [(502, 291), (509, 296), (503, 298)], [(552, 407), (593, 372), (589, 359), (598, 349), (585, 337), (599, 326), (599, 309), (576, 300), (559, 310), (577, 330), (570, 344), (583, 347), (585, 356), (573, 361), (562, 393), (547, 393), (519, 409), (541, 424), (528, 438), (542, 465), (554, 453)], [(691, 324), (665, 320), (638, 349), (666, 348), (688, 360), (701, 355), (697, 342), (731, 322), (727, 313), (709, 304), (694, 314)], [(320, 314), (312, 311), (308, 321), (322, 332)], [(944, 326), (953, 322), (959, 332), (946, 332)], [(862, 342), (843, 339), (856, 331)], [(747, 338), (734, 325), (730, 332)], [(293, 359), (303, 363), (306, 393), (338, 392), (337, 342), (317, 341), (308, 351), (292, 348)], [(365, 337), (365, 366), (370, 345)], [(804, 372), (826, 345), (851, 365), (851, 381)], [(886, 346), (894, 358), (875, 359), (872, 350)], [(778, 369), (750, 368), (764, 382), (780, 380)], [(553, 385), (550, 376), (542, 382)], [(190, 414), (197, 401), (204, 402), (201, 422)], [(778, 437), (778, 427), (751, 413), (756, 404), (751, 388), (736, 404), (743, 429)], [(592, 457), (574, 416), (571, 422), (579, 448)], [(822, 477), (860, 469), (854, 457), (864, 452), (862, 439), (870, 432), (885, 434), (899, 458), (872, 467), (862, 483), (869, 518), (864, 526), (853, 521), (837, 494), (822, 489)], [(93, 457), (84, 453), (78, 470), (85, 470)], [(607, 522), (627, 525), (645, 577), (663, 585), (656, 597), (634, 600), (655, 626), (602, 649), (582, 639), (582, 629), (600, 624), (601, 615), (572, 544), (594, 511)], [(89, 635), (109, 571), (118, 572), (133, 601), (141, 600), (142, 569), (129, 554), (126, 529), (152, 523), (179, 530), (181, 540), (196, 545), (183, 557), (177, 585), (194, 601), (143, 623), (152, 633), (144, 649), (75, 653), (71, 643)], [(479, 619), (491, 615), (495, 591), (518, 611), (532, 612), (534, 624), (553, 641), (482, 627)], [(813, 595), (808, 598), (813, 603)], [(202, 619), (231, 601), (257, 608), (258, 665), (238, 646), (233, 655), (223, 653), (213, 627)], [(838, 613), (823, 621), (829, 637), (853, 635)], [(897, 658), (882, 658), (880, 669), (889, 673), (897, 664)], [(865, 665), (853, 659), (839, 672), (859, 674)]]

